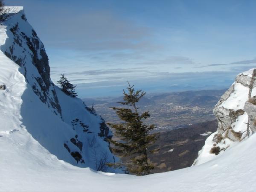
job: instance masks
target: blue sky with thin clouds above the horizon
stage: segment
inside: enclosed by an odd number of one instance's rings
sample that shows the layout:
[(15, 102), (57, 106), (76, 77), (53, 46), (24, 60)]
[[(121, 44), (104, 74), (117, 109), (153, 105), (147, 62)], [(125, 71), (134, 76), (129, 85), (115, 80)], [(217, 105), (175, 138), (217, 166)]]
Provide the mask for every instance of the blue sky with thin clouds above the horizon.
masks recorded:
[(24, 6), (51, 78), (79, 97), (224, 89), (256, 67), (255, 0), (6, 0)]

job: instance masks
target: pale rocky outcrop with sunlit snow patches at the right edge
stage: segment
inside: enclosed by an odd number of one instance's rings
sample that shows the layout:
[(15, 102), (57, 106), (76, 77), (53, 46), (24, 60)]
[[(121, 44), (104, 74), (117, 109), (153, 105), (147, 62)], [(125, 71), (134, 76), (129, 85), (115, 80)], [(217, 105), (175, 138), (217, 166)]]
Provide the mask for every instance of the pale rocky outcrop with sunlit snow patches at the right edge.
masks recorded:
[(221, 96), (213, 109), (218, 129), (207, 138), (194, 165), (211, 160), (256, 132), (256, 103), (248, 102), (250, 97), (254, 100), (256, 96), (256, 80), (252, 77), (253, 69), (240, 73)]

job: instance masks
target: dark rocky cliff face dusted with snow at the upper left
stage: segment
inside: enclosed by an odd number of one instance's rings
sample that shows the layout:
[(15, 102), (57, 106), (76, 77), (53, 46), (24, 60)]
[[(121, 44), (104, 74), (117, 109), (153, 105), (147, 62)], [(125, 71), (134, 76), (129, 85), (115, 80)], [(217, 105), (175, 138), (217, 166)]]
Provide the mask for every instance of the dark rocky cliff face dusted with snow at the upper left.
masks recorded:
[(50, 79), (48, 56), (43, 43), (28, 23), (22, 7), (6, 9), (10, 12), (10, 17), (4, 23), (8, 38), (1, 45), (1, 51), (20, 66), (26, 81), (41, 101), (56, 115), (61, 116), (61, 107)]

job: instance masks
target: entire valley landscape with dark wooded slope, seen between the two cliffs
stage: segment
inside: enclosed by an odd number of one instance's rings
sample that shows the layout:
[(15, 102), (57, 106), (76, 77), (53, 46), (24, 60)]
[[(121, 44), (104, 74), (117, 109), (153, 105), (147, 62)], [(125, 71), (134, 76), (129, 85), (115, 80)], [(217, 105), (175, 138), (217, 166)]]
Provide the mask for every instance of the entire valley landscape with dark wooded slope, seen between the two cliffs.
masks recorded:
[[(160, 150), (150, 154), (155, 166), (152, 173), (182, 169), (192, 165), (206, 138), (218, 128), (212, 109), (225, 90), (199, 90), (175, 93), (148, 94), (138, 103), (140, 112), (150, 111), (145, 122), (154, 124), (160, 132), (151, 149)], [(106, 122), (120, 120), (110, 107), (120, 107), (118, 98), (83, 99), (96, 110)], [(122, 106), (121, 106), (122, 107)], [(125, 106), (126, 107), (126, 106)], [(113, 131), (113, 130), (112, 130)], [(113, 133), (113, 140), (119, 140)], [(126, 158), (122, 158), (125, 162)]]

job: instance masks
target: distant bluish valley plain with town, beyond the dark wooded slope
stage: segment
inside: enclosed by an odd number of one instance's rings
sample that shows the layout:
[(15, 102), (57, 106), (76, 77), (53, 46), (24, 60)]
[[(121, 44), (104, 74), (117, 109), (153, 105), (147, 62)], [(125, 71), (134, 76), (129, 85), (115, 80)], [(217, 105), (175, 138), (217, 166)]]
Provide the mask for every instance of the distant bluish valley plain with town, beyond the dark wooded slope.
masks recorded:
[[(189, 125), (215, 120), (212, 109), (225, 90), (199, 90), (173, 93), (146, 94), (138, 106), (140, 112), (149, 111), (145, 121), (154, 124), (157, 132), (185, 128)], [(120, 122), (111, 107), (122, 107), (122, 97), (82, 99), (96, 110), (106, 122)]]

